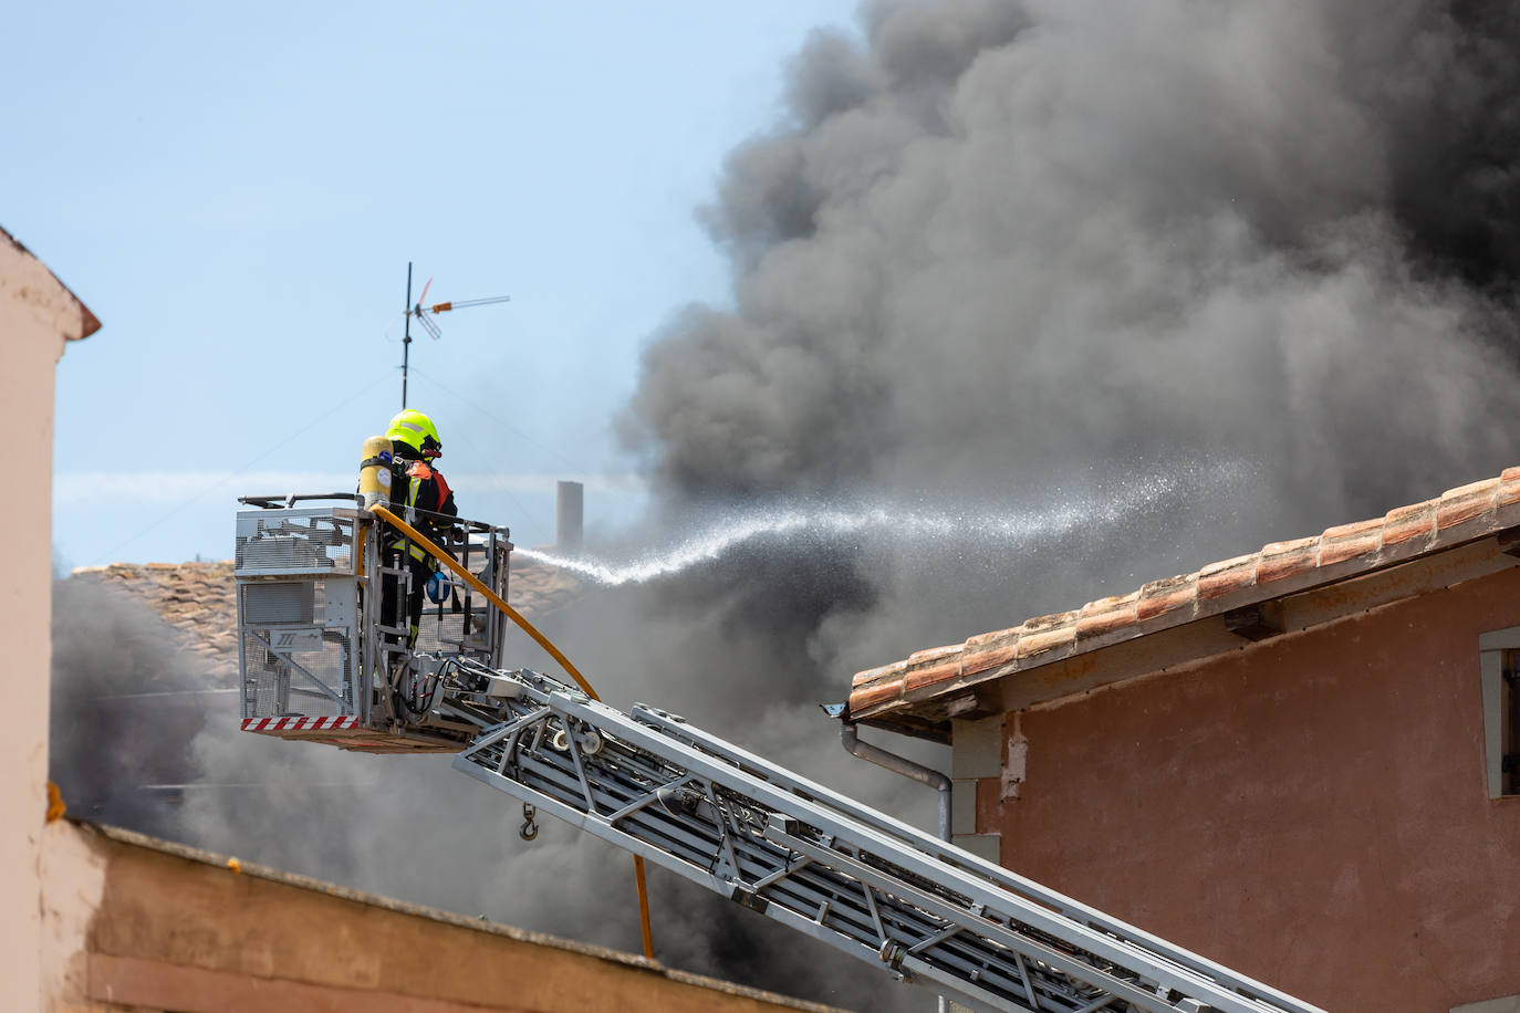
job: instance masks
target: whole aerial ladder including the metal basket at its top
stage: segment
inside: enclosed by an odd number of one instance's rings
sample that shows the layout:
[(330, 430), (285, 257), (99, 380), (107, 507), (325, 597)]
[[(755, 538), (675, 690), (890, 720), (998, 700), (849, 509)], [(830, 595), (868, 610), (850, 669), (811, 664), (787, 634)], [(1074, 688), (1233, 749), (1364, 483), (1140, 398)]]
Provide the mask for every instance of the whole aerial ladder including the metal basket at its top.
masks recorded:
[[(348, 503), (298, 506), (316, 500)], [(354, 500), (243, 498), (245, 731), (451, 753), (523, 803), (524, 835), (555, 816), (976, 1010), (1322, 1013), (675, 714), (608, 706), (568, 662), (572, 682), (506, 667), (509, 532), (436, 518), (447, 536), (433, 544), (415, 516)], [(398, 532), (459, 576), (410, 647), (377, 618), (382, 580), (409, 580), (383, 553)]]

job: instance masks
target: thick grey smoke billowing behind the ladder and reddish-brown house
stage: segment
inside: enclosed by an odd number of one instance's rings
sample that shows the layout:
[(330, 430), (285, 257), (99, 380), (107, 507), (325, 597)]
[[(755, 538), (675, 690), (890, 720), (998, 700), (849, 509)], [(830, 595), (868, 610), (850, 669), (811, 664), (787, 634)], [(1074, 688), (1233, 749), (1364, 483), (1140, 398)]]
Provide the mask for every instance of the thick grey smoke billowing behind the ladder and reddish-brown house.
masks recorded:
[[(676, 313), (620, 416), (657, 494), (622, 550), (889, 519), (757, 536), (546, 632), (610, 702), (932, 826), (932, 793), (845, 756), (813, 708), (850, 673), (1514, 463), (1517, 67), (1517, 8), (1455, 0), (909, 0), (819, 30), (702, 211), (731, 305)], [(1028, 530), (988, 535), (1008, 516)], [(514, 659), (553, 670), (526, 639)], [(515, 806), (447, 762), (228, 721), (190, 750), (193, 841), (637, 949), (626, 857), (552, 822), (518, 841)], [(651, 885), (670, 964), (923, 1008)]]

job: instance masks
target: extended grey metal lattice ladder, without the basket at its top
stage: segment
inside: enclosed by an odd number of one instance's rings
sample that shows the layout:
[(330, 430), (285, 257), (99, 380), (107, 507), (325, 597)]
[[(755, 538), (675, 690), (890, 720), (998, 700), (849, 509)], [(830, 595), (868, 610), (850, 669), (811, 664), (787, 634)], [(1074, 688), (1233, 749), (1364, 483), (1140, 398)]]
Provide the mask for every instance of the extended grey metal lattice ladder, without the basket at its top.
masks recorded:
[(898, 978), (983, 1010), (1322, 1013), (635, 705), (459, 659), (454, 767)]

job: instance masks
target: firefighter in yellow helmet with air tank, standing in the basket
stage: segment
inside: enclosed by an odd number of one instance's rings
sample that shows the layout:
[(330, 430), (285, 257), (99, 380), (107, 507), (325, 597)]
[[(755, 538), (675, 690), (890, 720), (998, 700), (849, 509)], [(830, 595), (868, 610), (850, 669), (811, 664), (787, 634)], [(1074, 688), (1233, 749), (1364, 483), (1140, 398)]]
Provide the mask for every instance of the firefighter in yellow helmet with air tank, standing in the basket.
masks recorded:
[[(433, 544), (445, 541), (451, 522), (447, 518), (459, 516), (454, 506), (454, 494), (444, 481), (442, 472), (433, 462), (444, 456), (444, 443), (438, 439), (438, 427), (433, 421), (416, 409), (406, 409), (394, 419), (386, 430), (391, 440), (391, 510), (403, 521), (421, 532)], [(386, 566), (401, 568), (410, 573), (410, 592), (406, 597), (407, 617), (407, 649), (416, 647), (416, 635), (423, 620), (423, 592), (429, 585), (433, 589), (429, 597), (442, 600), (433, 592), (442, 594), (439, 588), (442, 574), (438, 571), (438, 560), (421, 545), (413, 544), (404, 535), (397, 533), (386, 544)], [(380, 591), (380, 623), (398, 626), (397, 615), (400, 603), (400, 580), (394, 574), (386, 574)], [(395, 635), (388, 635), (395, 642)]]

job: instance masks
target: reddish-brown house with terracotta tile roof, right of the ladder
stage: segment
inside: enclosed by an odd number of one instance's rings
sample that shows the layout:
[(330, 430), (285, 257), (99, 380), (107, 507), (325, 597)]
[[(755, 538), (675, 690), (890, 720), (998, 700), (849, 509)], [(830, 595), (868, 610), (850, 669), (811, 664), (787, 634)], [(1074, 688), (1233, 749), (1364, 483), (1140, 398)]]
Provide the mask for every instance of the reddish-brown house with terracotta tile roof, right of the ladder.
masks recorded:
[(859, 673), (962, 846), (1327, 1010), (1520, 1010), (1520, 468)]

